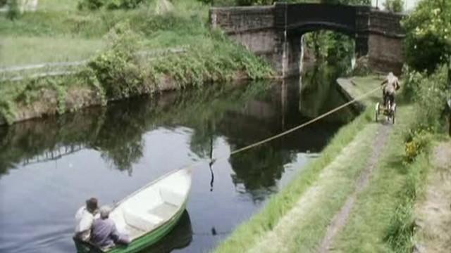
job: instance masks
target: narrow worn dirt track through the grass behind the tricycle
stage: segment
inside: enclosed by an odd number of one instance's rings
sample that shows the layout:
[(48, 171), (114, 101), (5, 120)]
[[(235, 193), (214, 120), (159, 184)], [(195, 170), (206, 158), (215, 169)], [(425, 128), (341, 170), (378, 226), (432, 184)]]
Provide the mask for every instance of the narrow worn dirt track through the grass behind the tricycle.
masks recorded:
[(357, 186), (354, 190), (354, 193), (352, 193), (352, 195), (350, 195), (350, 197), (347, 198), (347, 201), (340, 210), (340, 212), (336, 214), (335, 217), (333, 217), (333, 220), (330, 223), (330, 226), (328, 227), (326, 236), (324, 237), (323, 242), (321, 242), (319, 252), (321, 253), (328, 252), (330, 250), (330, 246), (332, 245), (335, 236), (338, 235), (338, 233), (342, 231), (342, 228), (345, 227), (347, 219), (350, 216), (352, 207), (354, 207), (354, 202), (357, 198), (357, 195), (361, 193), (362, 190), (366, 188), (366, 186), (368, 186), (369, 179), (378, 164), (378, 159), (379, 157), (381, 157), (383, 147), (388, 140), (390, 131), (391, 127), (389, 124), (383, 124), (379, 128), (376, 140), (373, 143), (373, 150), (371, 153), (371, 157), (368, 161), (368, 165), (366, 166), (366, 169), (362, 172), (359, 181), (357, 181)]

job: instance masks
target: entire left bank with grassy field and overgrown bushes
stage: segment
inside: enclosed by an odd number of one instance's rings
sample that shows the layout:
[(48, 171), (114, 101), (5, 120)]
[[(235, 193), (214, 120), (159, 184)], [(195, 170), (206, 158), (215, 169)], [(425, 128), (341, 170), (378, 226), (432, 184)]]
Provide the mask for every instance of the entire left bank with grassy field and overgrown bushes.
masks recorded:
[[(0, 98), (0, 123), (167, 89), (272, 76), (264, 60), (220, 31), (210, 30), (208, 6), (194, 0), (178, 1), (173, 11), (158, 13), (156, 4), (149, 1), (128, 11), (78, 11), (69, 2), (49, 0), (39, 11), (25, 13), (19, 20), (0, 17), (0, 33), (6, 35), (1, 54), (8, 55), (2, 58), (6, 59), (1, 62), (4, 65), (89, 56), (87, 65), (69, 77), (1, 82), (0, 93), (5, 96)], [(16, 38), (18, 43), (13, 43)], [(22, 51), (25, 45), (30, 49)], [(183, 51), (157, 56), (145, 53), (177, 46)]]

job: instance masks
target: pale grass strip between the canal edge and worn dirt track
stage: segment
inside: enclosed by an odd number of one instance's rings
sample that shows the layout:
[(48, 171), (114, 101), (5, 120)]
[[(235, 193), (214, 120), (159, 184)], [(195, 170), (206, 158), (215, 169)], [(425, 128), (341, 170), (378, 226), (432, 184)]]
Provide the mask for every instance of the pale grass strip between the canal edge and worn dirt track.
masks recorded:
[(250, 252), (315, 252), (328, 224), (345, 205), (366, 168), (377, 128), (377, 124), (369, 124), (360, 131), (278, 223), (273, 236), (263, 238)]

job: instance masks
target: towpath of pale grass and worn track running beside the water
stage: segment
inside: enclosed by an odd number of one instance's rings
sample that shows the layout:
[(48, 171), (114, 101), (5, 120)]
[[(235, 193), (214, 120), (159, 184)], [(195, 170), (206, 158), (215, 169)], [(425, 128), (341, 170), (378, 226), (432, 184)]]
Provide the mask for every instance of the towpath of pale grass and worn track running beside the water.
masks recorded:
[[(350, 80), (340, 82), (350, 97), (357, 97), (376, 85), (373, 82), (373, 86), (356, 89), (356, 84)], [(364, 104), (373, 104), (378, 95), (374, 94)], [(335, 237), (345, 227), (359, 193), (371, 181), (391, 131), (391, 124), (369, 123), (323, 169), (319, 179), (299, 198), (295, 207), (249, 252), (328, 252)], [(330, 198), (338, 201), (328, 201)]]

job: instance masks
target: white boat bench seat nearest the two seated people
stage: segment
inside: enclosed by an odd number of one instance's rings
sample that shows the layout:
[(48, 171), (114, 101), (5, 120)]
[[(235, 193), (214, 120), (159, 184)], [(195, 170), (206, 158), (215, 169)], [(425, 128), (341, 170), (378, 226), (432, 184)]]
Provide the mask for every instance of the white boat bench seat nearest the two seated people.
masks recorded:
[(134, 212), (130, 208), (123, 209), (125, 223), (142, 231), (150, 231), (163, 221), (159, 216), (148, 212)]

